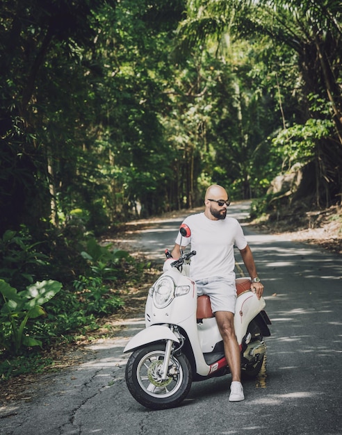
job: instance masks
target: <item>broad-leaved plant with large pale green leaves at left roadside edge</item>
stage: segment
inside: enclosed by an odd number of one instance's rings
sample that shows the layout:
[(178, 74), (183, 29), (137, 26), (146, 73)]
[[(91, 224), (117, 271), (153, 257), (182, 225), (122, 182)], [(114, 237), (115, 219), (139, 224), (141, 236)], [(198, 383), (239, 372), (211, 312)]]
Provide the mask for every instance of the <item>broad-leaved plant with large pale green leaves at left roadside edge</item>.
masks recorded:
[(57, 281), (36, 282), (26, 290), (17, 292), (6, 281), (0, 279), (3, 306), (0, 311), (0, 347), (18, 354), (22, 346), (41, 346), (42, 342), (26, 333), (26, 323), (45, 315), (42, 305), (60, 291)]

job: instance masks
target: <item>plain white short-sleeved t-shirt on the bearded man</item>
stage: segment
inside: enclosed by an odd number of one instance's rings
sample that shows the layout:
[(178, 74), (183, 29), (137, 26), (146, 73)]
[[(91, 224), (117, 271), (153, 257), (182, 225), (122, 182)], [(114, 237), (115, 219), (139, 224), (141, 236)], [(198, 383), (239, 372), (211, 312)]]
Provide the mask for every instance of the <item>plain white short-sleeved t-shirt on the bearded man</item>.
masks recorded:
[(176, 243), (196, 251), (191, 258), (190, 276), (195, 280), (209, 277), (235, 279), (234, 245), (238, 249), (247, 246), (243, 229), (234, 217), (211, 220), (204, 213), (190, 215), (184, 220), (191, 231), (189, 238), (179, 233)]

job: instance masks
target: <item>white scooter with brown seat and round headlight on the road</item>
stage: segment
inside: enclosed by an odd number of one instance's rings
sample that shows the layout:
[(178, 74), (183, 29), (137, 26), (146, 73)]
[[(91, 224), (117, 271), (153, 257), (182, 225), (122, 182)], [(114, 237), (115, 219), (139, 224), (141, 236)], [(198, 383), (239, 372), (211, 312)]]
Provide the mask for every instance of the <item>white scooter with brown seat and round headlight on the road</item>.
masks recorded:
[[(181, 225), (181, 235), (190, 229)], [(168, 250), (165, 252), (170, 256)], [(229, 373), (222, 337), (208, 296), (197, 297), (188, 276), (196, 254), (168, 258), (163, 274), (149, 289), (145, 307), (146, 329), (133, 336), (124, 352), (132, 352), (126, 366), (131, 395), (149, 409), (168, 409), (188, 395), (192, 381)], [(242, 374), (255, 377), (266, 354), (263, 337), (270, 336), (266, 303), (250, 290), (250, 279), (236, 279), (234, 327), (241, 349)]]

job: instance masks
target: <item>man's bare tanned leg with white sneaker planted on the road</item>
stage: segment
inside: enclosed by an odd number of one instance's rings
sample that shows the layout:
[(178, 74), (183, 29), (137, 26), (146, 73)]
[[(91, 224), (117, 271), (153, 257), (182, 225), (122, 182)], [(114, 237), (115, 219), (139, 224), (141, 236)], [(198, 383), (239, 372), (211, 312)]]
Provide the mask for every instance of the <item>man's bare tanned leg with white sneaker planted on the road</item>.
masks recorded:
[(234, 314), (229, 311), (216, 311), (216, 322), (225, 345), (225, 356), (231, 371), (231, 402), (244, 400), (243, 387), (241, 385), (241, 356), (238, 341), (234, 330)]

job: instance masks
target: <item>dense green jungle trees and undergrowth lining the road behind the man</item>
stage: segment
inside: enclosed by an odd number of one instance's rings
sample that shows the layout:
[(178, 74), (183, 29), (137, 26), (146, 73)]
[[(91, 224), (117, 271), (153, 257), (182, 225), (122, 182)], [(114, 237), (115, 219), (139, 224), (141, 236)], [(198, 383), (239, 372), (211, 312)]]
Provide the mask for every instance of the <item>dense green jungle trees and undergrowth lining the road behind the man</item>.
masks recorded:
[(5, 352), (120, 306), (108, 292), (134, 261), (96, 243), (120, 222), (199, 206), (211, 183), (257, 214), (341, 204), (340, 1), (0, 8)]

